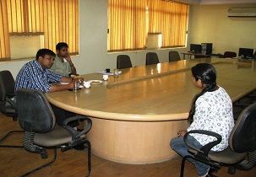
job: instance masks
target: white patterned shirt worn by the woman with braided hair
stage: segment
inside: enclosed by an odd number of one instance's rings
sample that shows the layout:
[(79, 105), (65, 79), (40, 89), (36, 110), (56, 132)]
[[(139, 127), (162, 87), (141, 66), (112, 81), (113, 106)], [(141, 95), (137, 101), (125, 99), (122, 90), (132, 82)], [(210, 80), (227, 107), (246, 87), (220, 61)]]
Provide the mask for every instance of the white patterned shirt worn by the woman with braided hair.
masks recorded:
[[(228, 146), (228, 138), (233, 127), (232, 102), (224, 88), (219, 87), (213, 92), (206, 92), (196, 100), (193, 122), (188, 131), (206, 130), (219, 133), (222, 141), (211, 148), (212, 151), (222, 151)], [(190, 135), (203, 146), (216, 139), (197, 133)]]

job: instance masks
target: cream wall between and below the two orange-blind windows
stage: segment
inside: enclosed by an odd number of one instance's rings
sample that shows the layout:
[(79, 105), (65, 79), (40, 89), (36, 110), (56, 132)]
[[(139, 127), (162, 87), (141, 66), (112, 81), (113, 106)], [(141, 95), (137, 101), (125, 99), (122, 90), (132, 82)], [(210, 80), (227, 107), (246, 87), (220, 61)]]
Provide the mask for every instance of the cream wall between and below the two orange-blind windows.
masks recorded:
[[(73, 56), (73, 62), (80, 74), (101, 71), (106, 67), (116, 67), (117, 55), (120, 53), (107, 53), (107, 2), (107, 0), (79, 1), (80, 51), (79, 56)], [(130, 51), (123, 52), (123, 54), (128, 54), (131, 57), (133, 66), (139, 66), (144, 65), (145, 54), (148, 51), (154, 50)], [(155, 52), (161, 62), (167, 62), (168, 51), (170, 49)], [(178, 51), (187, 51), (187, 49), (178, 49)], [(8, 69), (16, 77), (19, 69), (30, 60), (0, 62), (0, 71)]]

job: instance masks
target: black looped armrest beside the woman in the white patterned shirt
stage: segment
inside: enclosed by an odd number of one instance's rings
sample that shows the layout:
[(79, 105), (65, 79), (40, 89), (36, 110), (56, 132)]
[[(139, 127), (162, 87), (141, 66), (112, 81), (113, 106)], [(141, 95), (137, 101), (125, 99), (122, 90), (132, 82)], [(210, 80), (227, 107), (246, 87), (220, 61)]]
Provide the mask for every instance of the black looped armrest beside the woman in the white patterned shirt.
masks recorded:
[[(192, 133), (199, 133), (199, 134), (204, 134), (208, 135), (211, 137), (216, 137), (217, 139), (213, 142), (209, 142), (205, 144), (202, 148), (195, 148), (191, 143), (188, 142), (188, 135)], [(199, 153), (204, 153), (205, 156), (208, 156), (208, 153), (210, 152), (210, 149), (215, 147), (215, 145), (219, 144), (222, 140), (222, 137), (220, 134), (213, 132), (213, 131), (204, 131), (204, 130), (193, 130), (193, 131), (188, 131), (184, 135), (184, 142), (188, 145), (189, 148), (192, 148), (193, 150), (199, 152)]]

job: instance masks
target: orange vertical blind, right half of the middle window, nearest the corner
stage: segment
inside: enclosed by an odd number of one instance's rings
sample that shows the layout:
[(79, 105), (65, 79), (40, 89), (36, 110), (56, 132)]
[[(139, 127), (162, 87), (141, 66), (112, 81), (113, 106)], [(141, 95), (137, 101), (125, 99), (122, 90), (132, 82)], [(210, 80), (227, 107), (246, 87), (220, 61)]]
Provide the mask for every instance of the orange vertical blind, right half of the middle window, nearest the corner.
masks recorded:
[(162, 34), (162, 47), (185, 46), (188, 4), (150, 0), (149, 33)]

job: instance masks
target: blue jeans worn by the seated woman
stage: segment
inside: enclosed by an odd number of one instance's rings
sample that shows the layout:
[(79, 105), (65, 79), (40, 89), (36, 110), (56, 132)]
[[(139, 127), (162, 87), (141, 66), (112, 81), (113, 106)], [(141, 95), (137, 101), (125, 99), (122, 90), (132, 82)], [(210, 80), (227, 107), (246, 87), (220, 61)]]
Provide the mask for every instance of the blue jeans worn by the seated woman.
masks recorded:
[[(194, 147), (196, 148), (201, 148), (202, 145), (192, 136), (188, 135), (188, 142), (190, 142), (191, 144), (193, 144)], [(187, 144), (184, 142), (183, 137), (176, 137), (173, 138), (172, 141), (170, 142), (171, 148), (178, 153), (179, 155), (181, 155), (182, 157), (186, 156), (186, 155), (191, 155), (190, 153), (188, 153), (188, 146)], [(197, 172), (199, 174), (199, 176), (203, 176), (204, 174), (207, 174), (210, 166), (207, 164), (203, 164), (200, 163), (199, 161), (194, 160), (193, 158), (188, 158), (188, 160), (194, 164), (195, 168), (197, 169)]]

